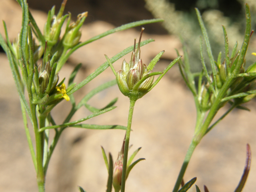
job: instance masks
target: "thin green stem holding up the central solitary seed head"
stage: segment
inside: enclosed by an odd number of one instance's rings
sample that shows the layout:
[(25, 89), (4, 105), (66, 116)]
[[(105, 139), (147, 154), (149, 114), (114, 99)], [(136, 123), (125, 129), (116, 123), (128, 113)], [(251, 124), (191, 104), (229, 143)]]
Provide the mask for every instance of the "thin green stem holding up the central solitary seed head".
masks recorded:
[(123, 161), (123, 170), (122, 170), (121, 192), (124, 192), (124, 189), (125, 189), (129, 140), (130, 140), (130, 132), (131, 132), (131, 126), (132, 126), (132, 114), (133, 114), (135, 102), (136, 102), (136, 99), (130, 98), (130, 110), (128, 115), (128, 123), (127, 123), (127, 130), (126, 130), (125, 143), (124, 143), (124, 161)]

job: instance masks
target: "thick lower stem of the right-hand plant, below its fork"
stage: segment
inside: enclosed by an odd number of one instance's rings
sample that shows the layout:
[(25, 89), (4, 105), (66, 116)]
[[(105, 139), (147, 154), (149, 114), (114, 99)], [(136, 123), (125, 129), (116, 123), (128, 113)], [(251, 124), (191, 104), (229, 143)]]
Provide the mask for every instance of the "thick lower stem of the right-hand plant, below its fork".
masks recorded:
[(177, 178), (177, 181), (176, 181), (176, 183), (175, 183), (175, 186), (174, 186), (174, 189), (173, 189), (172, 192), (177, 192), (177, 191), (178, 191), (178, 189), (179, 189), (179, 187), (180, 187), (180, 183), (181, 183), (181, 181), (182, 181), (182, 178), (183, 178), (183, 176), (184, 176), (184, 174), (185, 174), (185, 171), (186, 171), (186, 168), (187, 168), (187, 166), (188, 166), (188, 162), (190, 161), (190, 158), (191, 158), (191, 156), (192, 156), (192, 154), (193, 154), (193, 152), (194, 152), (194, 150), (195, 150), (197, 144), (198, 144), (198, 143), (196, 143), (196, 142), (194, 142), (194, 141), (192, 141), (192, 142), (190, 143), (190, 146), (189, 146), (188, 151), (187, 151), (187, 153), (186, 153), (184, 162), (183, 162), (182, 167), (181, 167), (181, 169), (180, 169), (179, 176), (178, 176), (178, 178)]

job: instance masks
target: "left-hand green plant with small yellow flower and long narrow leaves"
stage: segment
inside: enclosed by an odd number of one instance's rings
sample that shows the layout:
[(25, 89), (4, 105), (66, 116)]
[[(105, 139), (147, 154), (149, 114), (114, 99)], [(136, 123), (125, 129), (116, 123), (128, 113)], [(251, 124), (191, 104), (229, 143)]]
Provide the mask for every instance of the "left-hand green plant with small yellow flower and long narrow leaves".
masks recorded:
[[(74, 68), (74, 71), (68, 80), (67, 86), (64, 84), (65, 78), (59, 82), (58, 73), (61, 72), (62, 66), (68, 60), (69, 56), (81, 46), (114, 32), (140, 26), (142, 24), (160, 22), (162, 20), (153, 19), (133, 22), (94, 36), (85, 42), (79, 42), (81, 37), (80, 28), (86, 19), (87, 12), (79, 14), (76, 22), (71, 23), (71, 14), (69, 13), (63, 15), (67, 1), (64, 0), (57, 15), (55, 15), (55, 7), (52, 7), (52, 9), (48, 12), (47, 22), (44, 26), (44, 33), (42, 33), (39, 30), (32, 14), (28, 10), (26, 0), (17, 1), (22, 8), (22, 28), (20, 30), (20, 34), (18, 39), (11, 43), (8, 38), (6, 24), (4, 22), (6, 42), (2, 35), (0, 35), (0, 44), (8, 57), (16, 88), (20, 96), (24, 127), (37, 174), (38, 189), (40, 192), (43, 192), (50, 158), (60, 138), (60, 135), (67, 127), (74, 126), (90, 129), (126, 129), (124, 126), (117, 125), (102, 126), (80, 124), (89, 118), (98, 116), (115, 108), (114, 104), (116, 99), (110, 102), (106, 107), (102, 109), (94, 108), (94, 110), (92, 110), (92, 106), (88, 105), (87, 102), (98, 92), (110, 86), (114, 86), (116, 84), (116, 80), (106, 82), (98, 88), (95, 88), (84, 96), (78, 103), (76, 103), (73, 96), (74, 92), (82, 88), (85, 84), (93, 80), (96, 76), (108, 68), (108, 62), (102, 64), (99, 68), (92, 72), (92, 74), (76, 85), (74, 83), (74, 78), (81, 67), (81, 64), (78, 64)], [(65, 20), (67, 22), (66, 28), (64, 29), (65, 32), (63, 36), (60, 36), (60, 31), (63, 28)], [(36, 43), (35, 38), (38, 43)], [(143, 41), (141, 42), (141, 46), (152, 41), (152, 39)], [(111, 62), (118, 60), (132, 50), (133, 46), (126, 48), (122, 52), (112, 57), (110, 59)], [(40, 60), (41, 57), (43, 57), (42, 61)], [(38, 64), (39, 62), (41, 62), (41, 64)], [(28, 94), (28, 100), (26, 100), (25, 97), (26, 92)], [(72, 109), (70, 110), (68, 116), (64, 118), (62, 124), (56, 124), (52, 118), (51, 111), (64, 99), (71, 102)], [(72, 116), (82, 106), (86, 106), (89, 110), (92, 110), (93, 113), (85, 118), (70, 122)], [(30, 132), (28, 130), (27, 117), (33, 126), (34, 135), (36, 138), (35, 146), (33, 146)], [(55, 130), (55, 135), (52, 141), (49, 140), (49, 129)]]

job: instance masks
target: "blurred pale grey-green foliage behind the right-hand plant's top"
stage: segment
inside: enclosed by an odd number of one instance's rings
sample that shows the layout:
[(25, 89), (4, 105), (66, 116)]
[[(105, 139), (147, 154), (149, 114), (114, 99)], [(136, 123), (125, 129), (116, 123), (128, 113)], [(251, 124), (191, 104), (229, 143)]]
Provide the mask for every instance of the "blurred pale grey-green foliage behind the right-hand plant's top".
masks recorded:
[[(192, 71), (200, 71), (199, 36), (202, 35), (196, 12), (198, 8), (206, 26), (214, 58), (218, 53), (224, 53), (224, 35), (222, 25), (226, 27), (230, 49), (236, 41), (241, 46), (244, 36), (244, 4), (248, 3), (252, 15), (252, 29), (256, 29), (256, 1), (255, 0), (145, 0), (146, 8), (155, 18), (163, 18), (164, 27), (170, 34), (180, 36), (187, 44)], [(250, 42), (256, 41), (253, 34)], [(255, 46), (248, 48), (248, 53), (255, 52)], [(255, 61), (255, 57), (247, 54), (247, 62)], [(223, 60), (223, 58), (222, 58)], [(209, 62), (206, 60), (206, 65)]]

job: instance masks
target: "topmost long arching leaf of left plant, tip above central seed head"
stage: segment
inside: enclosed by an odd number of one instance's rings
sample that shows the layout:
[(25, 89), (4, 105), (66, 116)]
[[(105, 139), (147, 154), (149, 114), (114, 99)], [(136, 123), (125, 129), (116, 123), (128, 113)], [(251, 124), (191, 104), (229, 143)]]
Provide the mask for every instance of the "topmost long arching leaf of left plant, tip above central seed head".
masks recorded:
[[(137, 21), (137, 22), (132, 22), (132, 23), (128, 23), (128, 24), (125, 24), (125, 25), (122, 25), (122, 26), (119, 26), (117, 28), (114, 28), (114, 29), (111, 29), (111, 30), (108, 30), (100, 35), (97, 35), (97, 36), (94, 36), (93, 38), (90, 38), (89, 40), (85, 41), (85, 42), (82, 42), (76, 46), (74, 46), (74, 48), (72, 48), (66, 55), (64, 55), (62, 58), (60, 58), (59, 60), (59, 68), (57, 68), (57, 72), (60, 70), (60, 68), (64, 65), (64, 63), (68, 60), (69, 56), (75, 51), (77, 50), (78, 48), (90, 43), (90, 42), (93, 42), (95, 40), (98, 40), (102, 37), (105, 37), (109, 34), (112, 34), (112, 33), (115, 33), (115, 32), (119, 32), (119, 31), (123, 31), (123, 30), (126, 30), (126, 29), (129, 29), (129, 28), (133, 28), (133, 27), (136, 27), (136, 26), (140, 26), (140, 25), (145, 25), (145, 24), (150, 24), (150, 23), (155, 23), (155, 22), (162, 22), (164, 20), (162, 19), (150, 19), (150, 20), (141, 20), (141, 21)], [(133, 46), (132, 46), (133, 47)], [(111, 60), (111, 62), (113, 63), (113, 61)]]

